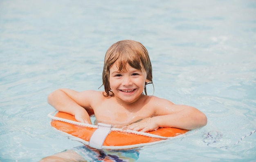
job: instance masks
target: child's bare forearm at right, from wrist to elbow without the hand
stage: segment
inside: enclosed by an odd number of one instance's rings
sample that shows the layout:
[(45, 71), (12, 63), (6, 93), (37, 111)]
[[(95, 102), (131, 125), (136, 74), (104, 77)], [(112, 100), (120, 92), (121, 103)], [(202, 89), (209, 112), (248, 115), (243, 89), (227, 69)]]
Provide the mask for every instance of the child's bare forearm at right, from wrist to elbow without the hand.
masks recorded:
[(152, 117), (159, 127), (197, 129), (207, 124), (207, 118), (198, 109), (190, 107), (180, 112)]

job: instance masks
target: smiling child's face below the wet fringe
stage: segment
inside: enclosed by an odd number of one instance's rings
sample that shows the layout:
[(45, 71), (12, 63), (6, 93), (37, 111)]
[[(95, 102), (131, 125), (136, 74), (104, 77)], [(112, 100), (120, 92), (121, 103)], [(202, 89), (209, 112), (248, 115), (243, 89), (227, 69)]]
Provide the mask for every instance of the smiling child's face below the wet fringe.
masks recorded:
[(110, 69), (110, 88), (117, 100), (133, 103), (137, 101), (145, 87), (147, 73), (126, 65), (126, 70), (119, 71), (117, 64), (113, 64)]

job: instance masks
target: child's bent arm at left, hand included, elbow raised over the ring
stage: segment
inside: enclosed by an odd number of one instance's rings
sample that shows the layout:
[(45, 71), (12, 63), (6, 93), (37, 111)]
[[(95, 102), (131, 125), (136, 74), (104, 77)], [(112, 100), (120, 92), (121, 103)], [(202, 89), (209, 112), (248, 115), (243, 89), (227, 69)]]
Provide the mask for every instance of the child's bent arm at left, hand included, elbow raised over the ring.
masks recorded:
[(74, 115), (79, 122), (91, 124), (85, 108), (90, 107), (90, 92), (77, 92), (71, 89), (58, 89), (48, 95), (48, 103), (56, 110)]

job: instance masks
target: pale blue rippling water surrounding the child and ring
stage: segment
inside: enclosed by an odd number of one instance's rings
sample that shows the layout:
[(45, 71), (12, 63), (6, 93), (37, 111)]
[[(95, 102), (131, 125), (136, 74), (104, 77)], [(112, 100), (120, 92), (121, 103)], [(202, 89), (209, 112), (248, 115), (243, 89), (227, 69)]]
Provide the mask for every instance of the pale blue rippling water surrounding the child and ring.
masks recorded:
[(97, 90), (106, 50), (124, 39), (148, 49), (154, 95), (208, 117), (138, 162), (256, 161), (255, 0), (1, 0), (0, 161), (81, 146), (52, 129), (47, 95)]

